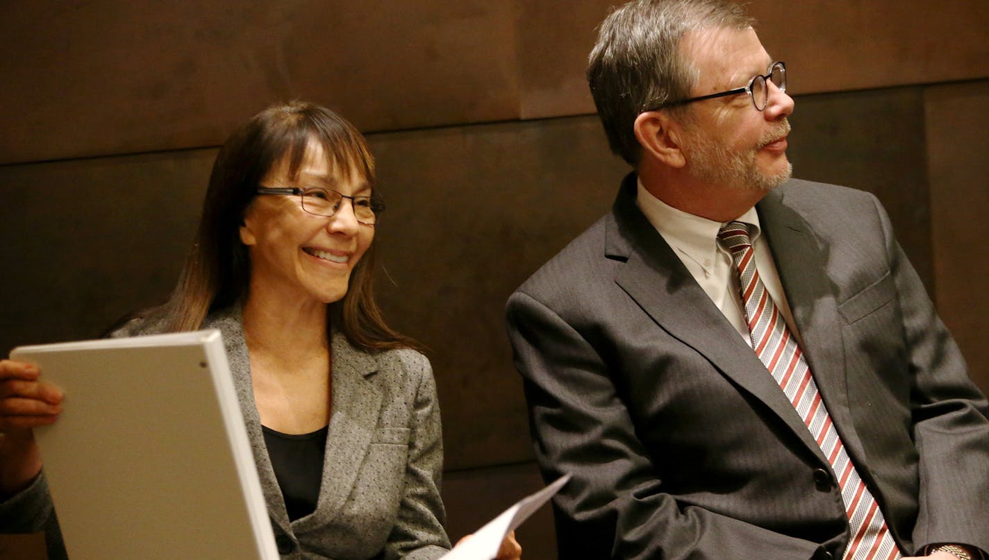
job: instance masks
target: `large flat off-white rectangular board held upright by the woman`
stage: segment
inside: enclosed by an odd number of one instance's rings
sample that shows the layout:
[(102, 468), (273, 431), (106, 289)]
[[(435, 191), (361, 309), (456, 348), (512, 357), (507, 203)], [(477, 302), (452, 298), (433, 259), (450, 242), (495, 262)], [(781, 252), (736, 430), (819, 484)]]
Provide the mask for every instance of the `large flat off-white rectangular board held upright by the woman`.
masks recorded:
[(69, 558), (279, 558), (220, 331), (11, 358), (65, 393), (36, 435)]

